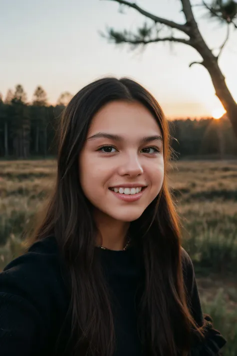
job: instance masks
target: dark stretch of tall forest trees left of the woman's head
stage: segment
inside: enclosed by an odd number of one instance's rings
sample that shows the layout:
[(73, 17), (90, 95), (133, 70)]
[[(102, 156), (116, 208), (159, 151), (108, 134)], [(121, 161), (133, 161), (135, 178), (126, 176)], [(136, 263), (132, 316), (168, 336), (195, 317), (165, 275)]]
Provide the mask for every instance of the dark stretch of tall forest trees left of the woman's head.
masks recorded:
[(62, 93), (55, 106), (48, 105), (47, 95), (38, 86), (32, 102), (27, 103), (21, 85), (0, 97), (0, 157), (27, 159), (56, 154), (55, 130), (59, 116), (72, 95)]

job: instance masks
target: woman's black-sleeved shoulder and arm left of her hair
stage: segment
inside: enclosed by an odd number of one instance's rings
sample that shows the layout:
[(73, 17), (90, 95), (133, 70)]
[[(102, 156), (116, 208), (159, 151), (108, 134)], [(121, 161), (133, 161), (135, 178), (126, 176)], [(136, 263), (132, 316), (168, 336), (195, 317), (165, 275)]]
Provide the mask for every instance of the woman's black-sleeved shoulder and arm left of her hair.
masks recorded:
[[(68, 291), (55, 238), (33, 243), (0, 273), (0, 349), (46, 354), (66, 314)], [(38, 352), (37, 352), (38, 351)]]

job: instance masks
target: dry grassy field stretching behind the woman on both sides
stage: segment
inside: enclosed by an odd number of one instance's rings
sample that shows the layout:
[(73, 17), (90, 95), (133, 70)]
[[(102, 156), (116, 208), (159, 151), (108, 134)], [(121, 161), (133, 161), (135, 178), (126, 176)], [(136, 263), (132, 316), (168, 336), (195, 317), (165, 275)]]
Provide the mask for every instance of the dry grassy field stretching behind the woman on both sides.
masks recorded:
[[(23, 251), (22, 230), (50, 191), (55, 161), (0, 161), (0, 269)], [(237, 162), (172, 163), (169, 184), (203, 311), (237, 354)]]

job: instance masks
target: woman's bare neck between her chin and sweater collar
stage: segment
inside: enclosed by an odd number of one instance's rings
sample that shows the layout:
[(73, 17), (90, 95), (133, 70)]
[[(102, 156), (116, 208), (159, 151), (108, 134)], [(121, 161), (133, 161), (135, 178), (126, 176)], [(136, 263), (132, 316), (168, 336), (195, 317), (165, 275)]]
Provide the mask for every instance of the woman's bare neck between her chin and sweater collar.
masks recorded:
[(122, 250), (127, 243), (127, 231), (130, 223), (114, 220), (102, 212), (94, 214), (98, 235), (96, 245), (109, 250)]

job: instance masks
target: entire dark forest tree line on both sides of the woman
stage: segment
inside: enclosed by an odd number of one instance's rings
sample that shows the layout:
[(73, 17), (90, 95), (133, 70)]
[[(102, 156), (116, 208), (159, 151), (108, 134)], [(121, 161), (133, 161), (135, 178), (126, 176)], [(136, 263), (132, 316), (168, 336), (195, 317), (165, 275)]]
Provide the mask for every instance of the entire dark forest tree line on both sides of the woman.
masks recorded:
[[(55, 106), (48, 105), (45, 91), (38, 86), (31, 103), (21, 85), (0, 97), (0, 158), (29, 159), (57, 154), (56, 131), (60, 115), (71, 95), (64, 92)], [(220, 120), (169, 121), (173, 157), (237, 158), (237, 141), (227, 118)]]

